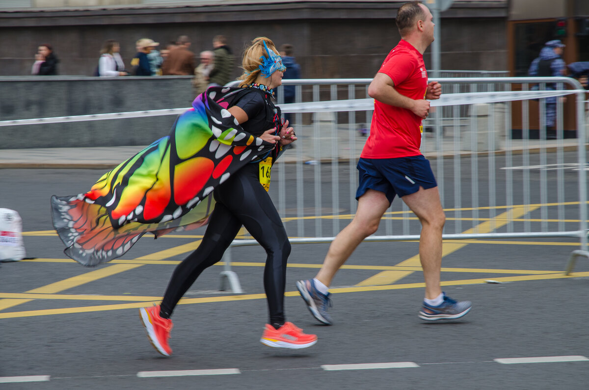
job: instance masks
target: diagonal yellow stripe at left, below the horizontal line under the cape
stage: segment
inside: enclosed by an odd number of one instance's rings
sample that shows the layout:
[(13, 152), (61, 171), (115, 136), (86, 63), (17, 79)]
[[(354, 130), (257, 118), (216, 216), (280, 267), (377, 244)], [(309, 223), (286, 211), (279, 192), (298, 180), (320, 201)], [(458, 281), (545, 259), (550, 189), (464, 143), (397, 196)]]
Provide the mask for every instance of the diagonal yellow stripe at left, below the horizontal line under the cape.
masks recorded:
[[(38, 287), (37, 289), (28, 290), (27, 293), (57, 293), (63, 290), (71, 289), (84, 285), (85, 283), (93, 282), (94, 280), (102, 279), (103, 277), (115, 275), (126, 270), (141, 267), (142, 264), (117, 264), (91, 272), (83, 273), (68, 279), (60, 280), (59, 282), (51, 283), (47, 286)], [(2, 299), (0, 300), (0, 311), (12, 308), (22, 303), (31, 302), (33, 299)]]

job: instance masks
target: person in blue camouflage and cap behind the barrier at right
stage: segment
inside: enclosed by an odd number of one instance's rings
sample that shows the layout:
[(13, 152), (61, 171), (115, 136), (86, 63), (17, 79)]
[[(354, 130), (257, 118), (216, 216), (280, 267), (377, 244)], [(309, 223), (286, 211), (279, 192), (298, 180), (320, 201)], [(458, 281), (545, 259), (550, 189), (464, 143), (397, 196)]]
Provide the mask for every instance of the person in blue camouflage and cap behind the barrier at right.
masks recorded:
[[(530, 65), (528, 74), (537, 77), (557, 77), (564, 76), (567, 71), (567, 64), (562, 60), (561, 55), (565, 45), (560, 39), (553, 39), (546, 42), (538, 58), (535, 58)], [(547, 90), (555, 90), (556, 85), (547, 84)], [(556, 123), (556, 98), (551, 97), (546, 99), (546, 126), (554, 127)], [(549, 129), (554, 131), (554, 129)], [(551, 136), (550, 138), (554, 138)]]

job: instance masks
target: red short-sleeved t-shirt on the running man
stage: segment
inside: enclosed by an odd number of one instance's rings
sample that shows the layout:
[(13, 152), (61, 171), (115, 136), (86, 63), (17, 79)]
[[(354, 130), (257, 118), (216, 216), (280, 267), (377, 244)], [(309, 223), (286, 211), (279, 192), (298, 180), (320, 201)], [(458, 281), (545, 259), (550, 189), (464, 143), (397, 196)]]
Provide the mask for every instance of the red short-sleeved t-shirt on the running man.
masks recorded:
[[(401, 40), (382, 63), (380, 73), (391, 77), (395, 90), (413, 100), (423, 99), (428, 88), (428, 73), (423, 55), (409, 42)], [(421, 154), (421, 118), (406, 108), (374, 101), (370, 136), (360, 157), (395, 158)]]

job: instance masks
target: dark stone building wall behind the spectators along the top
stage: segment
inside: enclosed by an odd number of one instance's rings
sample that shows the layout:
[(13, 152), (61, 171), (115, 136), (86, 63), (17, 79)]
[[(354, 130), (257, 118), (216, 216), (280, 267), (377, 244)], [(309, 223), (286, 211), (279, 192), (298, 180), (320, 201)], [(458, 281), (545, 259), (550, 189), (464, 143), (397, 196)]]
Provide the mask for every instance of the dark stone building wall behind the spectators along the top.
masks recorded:
[[(134, 42), (161, 45), (186, 34), (191, 49), (211, 48), (226, 35), (236, 57), (254, 37), (294, 45), (304, 78), (372, 77), (399, 41), (394, 17), (400, 2), (292, 2), (0, 11), (0, 75), (30, 74), (37, 46), (52, 44), (62, 75), (91, 75), (106, 39), (121, 42), (129, 64)], [(442, 12), (442, 69), (506, 70), (507, 2), (460, 2)], [(430, 51), (425, 53), (430, 67)], [(236, 66), (234, 75), (239, 75)]]

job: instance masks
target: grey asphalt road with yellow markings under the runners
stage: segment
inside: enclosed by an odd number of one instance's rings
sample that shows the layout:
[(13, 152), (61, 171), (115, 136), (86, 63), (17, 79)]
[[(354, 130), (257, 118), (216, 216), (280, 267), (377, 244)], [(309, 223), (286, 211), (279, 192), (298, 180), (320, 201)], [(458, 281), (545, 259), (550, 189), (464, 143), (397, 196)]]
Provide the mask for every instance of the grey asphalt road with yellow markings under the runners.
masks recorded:
[[(137, 308), (161, 297), (174, 265), (202, 230), (158, 240), (145, 236), (120, 262), (97, 268), (67, 262), (50, 232), (49, 197), (84, 191), (101, 173), (0, 170), (0, 207), (21, 214), (27, 255), (37, 258), (0, 265), (2, 389), (588, 388), (589, 262), (580, 259), (573, 276), (562, 274), (577, 249), (574, 239), (448, 243), (453, 246), (443, 259), (444, 290), (474, 305), (464, 319), (448, 323), (418, 319), (422, 274), (414, 260), (407, 263), (418, 254), (417, 243), (363, 243), (334, 280), (333, 326), (317, 325), (294, 287), (296, 280), (315, 275), (327, 244), (297, 244), (287, 273), (287, 316), (319, 337), (315, 346), (299, 351), (259, 342), (267, 320), (265, 256), (260, 247), (242, 247), (232, 252), (240, 263), (233, 270), (242, 299), (218, 290), (222, 266), (206, 270), (174, 313), (174, 353), (164, 358), (148, 343)], [(342, 171), (342, 178), (347, 174)], [(574, 188), (574, 177), (567, 176), (567, 186)], [(323, 181), (329, 181), (327, 173)], [(571, 191), (567, 196), (574, 198)], [(342, 191), (342, 204), (348, 196)], [(305, 187), (305, 197), (313, 199), (312, 186)], [(566, 214), (575, 217), (573, 211)], [(290, 223), (289, 234), (296, 232)], [(456, 222), (448, 223), (454, 229)], [(463, 223), (467, 228), (472, 222)], [(401, 262), (409, 265), (392, 267)], [(358, 286), (383, 270), (392, 282)], [(550, 358), (538, 362), (541, 357)], [(509, 358), (535, 359), (495, 360)], [(359, 364), (369, 366), (336, 366)], [(184, 370), (192, 375), (150, 377)], [(12, 377), (21, 376), (48, 380), (14, 382)]]

